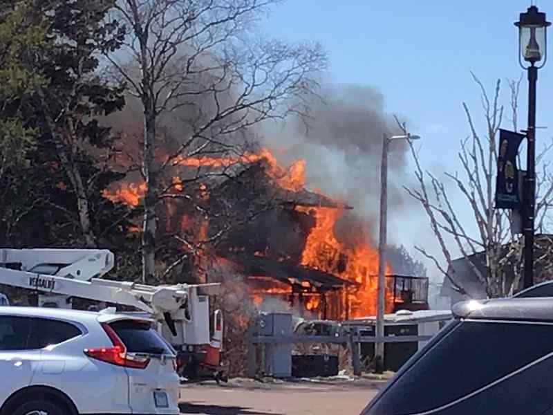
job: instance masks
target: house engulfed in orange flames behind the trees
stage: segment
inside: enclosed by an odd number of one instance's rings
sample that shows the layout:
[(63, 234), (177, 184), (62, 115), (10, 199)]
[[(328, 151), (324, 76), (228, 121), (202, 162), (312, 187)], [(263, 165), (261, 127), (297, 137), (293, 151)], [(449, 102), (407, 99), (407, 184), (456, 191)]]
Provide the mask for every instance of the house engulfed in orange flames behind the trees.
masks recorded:
[[(201, 183), (182, 180), (182, 174), (168, 178), (167, 192), (174, 197), (163, 204), (160, 228), (187, 234), (176, 238), (177, 249), (191, 252), (182, 272), (201, 268), (198, 259), (205, 256), (243, 275), (252, 302), (266, 311), (333, 320), (375, 315), (378, 255), (370, 228), (346, 203), (306, 190), (302, 160), (284, 169), (261, 149), (228, 158), (182, 158), (173, 165), (181, 173), (236, 167), (232, 175)], [(104, 196), (138, 205), (143, 192), (140, 182), (122, 183)], [(386, 271), (392, 272), (388, 266)], [(390, 285), (386, 312), (405, 298)]]

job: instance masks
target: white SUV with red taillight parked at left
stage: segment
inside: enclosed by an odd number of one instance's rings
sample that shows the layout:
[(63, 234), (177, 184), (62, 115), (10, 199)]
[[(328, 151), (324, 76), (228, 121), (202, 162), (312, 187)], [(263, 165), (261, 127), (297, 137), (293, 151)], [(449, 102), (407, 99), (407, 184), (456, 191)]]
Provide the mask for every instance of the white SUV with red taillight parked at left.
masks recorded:
[(152, 324), (0, 307), (0, 415), (178, 414), (175, 352)]

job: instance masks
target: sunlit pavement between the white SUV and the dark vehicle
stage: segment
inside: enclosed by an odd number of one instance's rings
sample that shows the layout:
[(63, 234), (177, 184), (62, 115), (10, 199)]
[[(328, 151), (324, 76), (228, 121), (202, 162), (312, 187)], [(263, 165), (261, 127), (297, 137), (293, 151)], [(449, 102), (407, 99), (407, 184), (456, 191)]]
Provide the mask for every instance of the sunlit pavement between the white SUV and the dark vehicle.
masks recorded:
[(182, 388), (181, 414), (199, 415), (358, 415), (379, 385), (294, 383), (251, 385), (194, 385)]

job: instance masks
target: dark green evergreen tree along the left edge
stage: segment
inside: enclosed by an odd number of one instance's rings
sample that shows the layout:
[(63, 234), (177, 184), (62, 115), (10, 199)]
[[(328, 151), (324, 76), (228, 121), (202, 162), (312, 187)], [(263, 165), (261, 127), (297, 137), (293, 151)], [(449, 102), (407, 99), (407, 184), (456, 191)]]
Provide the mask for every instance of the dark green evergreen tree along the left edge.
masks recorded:
[(96, 247), (135, 256), (128, 208), (101, 191), (115, 137), (98, 118), (124, 106), (99, 75), (122, 28), (104, 0), (0, 0), (0, 246)]

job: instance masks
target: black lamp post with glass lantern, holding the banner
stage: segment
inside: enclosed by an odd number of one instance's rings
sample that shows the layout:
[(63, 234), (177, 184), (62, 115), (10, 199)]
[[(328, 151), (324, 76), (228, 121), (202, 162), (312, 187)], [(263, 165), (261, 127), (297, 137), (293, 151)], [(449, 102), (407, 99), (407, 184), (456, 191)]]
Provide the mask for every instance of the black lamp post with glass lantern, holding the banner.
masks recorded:
[(527, 162), (523, 194), (524, 288), (534, 284), (534, 212), (536, 205), (536, 82), (538, 69), (547, 60), (547, 26), (545, 13), (530, 6), (515, 23), (518, 27), (518, 61), (528, 71)]

